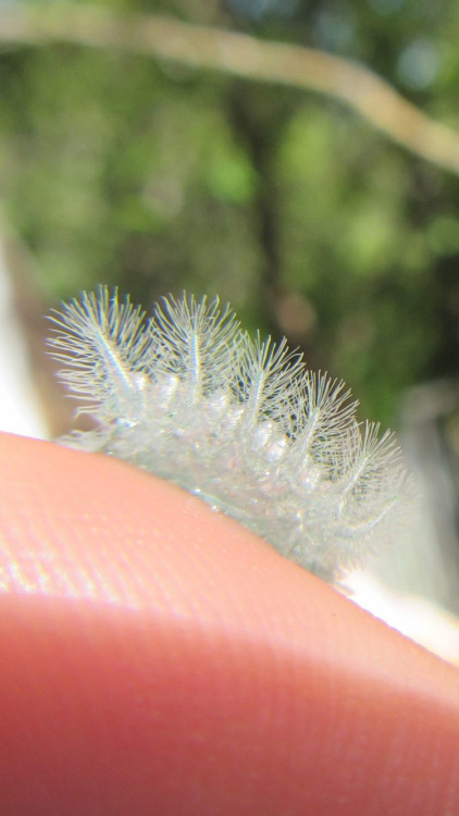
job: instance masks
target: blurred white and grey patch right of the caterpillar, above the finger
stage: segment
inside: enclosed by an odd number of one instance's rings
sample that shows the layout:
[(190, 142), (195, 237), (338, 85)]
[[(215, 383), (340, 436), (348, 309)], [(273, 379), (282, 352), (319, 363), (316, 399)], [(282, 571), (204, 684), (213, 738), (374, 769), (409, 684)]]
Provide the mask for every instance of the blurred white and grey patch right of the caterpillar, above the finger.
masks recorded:
[(459, 383), (410, 388), (400, 428), (419, 492), (410, 534), (349, 583), (361, 606), (459, 665)]

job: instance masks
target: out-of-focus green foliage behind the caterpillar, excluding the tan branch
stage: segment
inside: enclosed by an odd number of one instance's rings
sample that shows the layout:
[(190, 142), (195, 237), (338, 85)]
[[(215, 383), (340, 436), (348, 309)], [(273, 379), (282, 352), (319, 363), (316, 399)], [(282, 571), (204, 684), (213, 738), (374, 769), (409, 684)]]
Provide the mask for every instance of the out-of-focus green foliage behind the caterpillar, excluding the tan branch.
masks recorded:
[[(104, 4), (361, 60), (459, 128), (455, 0)], [(404, 388), (457, 373), (459, 177), (286, 87), (57, 44), (4, 47), (0, 76), (3, 203), (50, 302), (219, 293), (389, 423)]]

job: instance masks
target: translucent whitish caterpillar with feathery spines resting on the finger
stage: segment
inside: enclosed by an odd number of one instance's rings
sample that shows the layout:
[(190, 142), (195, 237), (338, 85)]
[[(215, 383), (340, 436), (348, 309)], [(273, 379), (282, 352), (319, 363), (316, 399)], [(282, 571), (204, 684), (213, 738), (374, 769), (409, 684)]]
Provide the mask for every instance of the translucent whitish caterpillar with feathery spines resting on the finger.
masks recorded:
[(252, 341), (215, 298), (139, 307), (100, 287), (54, 312), (53, 356), (98, 429), (63, 440), (117, 456), (238, 519), (326, 580), (392, 536), (408, 479), (390, 432), (286, 341)]

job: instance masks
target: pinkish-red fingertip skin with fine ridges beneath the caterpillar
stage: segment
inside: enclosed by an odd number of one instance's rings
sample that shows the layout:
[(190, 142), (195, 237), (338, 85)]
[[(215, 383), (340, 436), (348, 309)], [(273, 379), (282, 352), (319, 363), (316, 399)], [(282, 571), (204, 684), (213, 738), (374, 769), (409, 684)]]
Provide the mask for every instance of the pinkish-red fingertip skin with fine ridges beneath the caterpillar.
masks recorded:
[(173, 485), (0, 437), (4, 816), (459, 813), (459, 672)]

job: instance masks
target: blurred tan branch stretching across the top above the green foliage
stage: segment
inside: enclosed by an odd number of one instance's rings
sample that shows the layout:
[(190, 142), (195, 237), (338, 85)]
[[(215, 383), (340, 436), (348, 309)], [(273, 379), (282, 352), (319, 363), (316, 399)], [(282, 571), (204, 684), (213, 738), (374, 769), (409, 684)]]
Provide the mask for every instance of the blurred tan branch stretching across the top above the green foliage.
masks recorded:
[(459, 173), (459, 133), (430, 119), (369, 69), (340, 57), (172, 17), (123, 14), (84, 4), (0, 9), (0, 44), (55, 41), (133, 51), (324, 94), (412, 153)]

